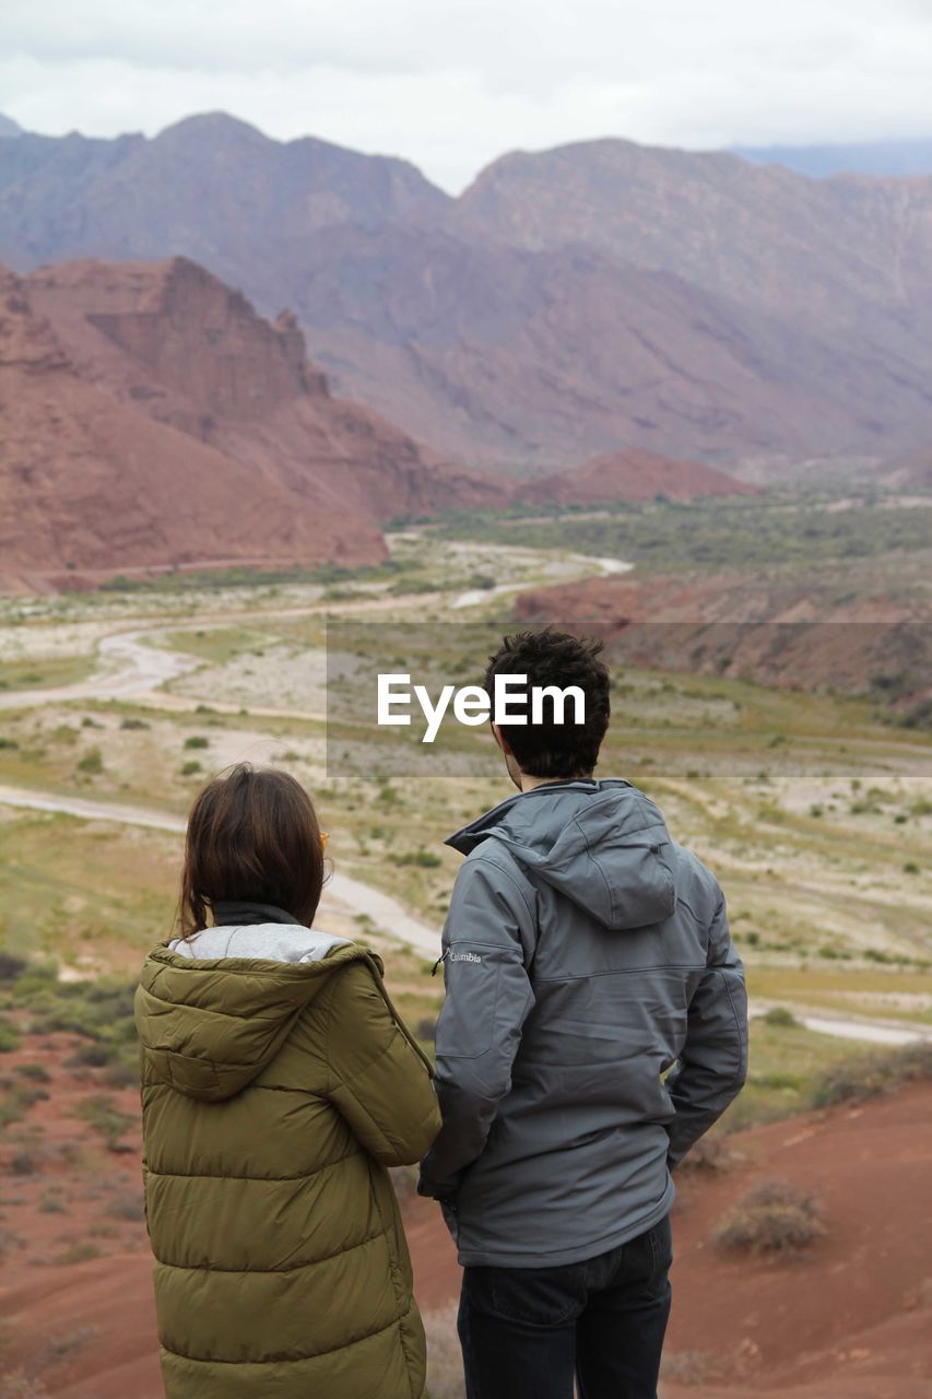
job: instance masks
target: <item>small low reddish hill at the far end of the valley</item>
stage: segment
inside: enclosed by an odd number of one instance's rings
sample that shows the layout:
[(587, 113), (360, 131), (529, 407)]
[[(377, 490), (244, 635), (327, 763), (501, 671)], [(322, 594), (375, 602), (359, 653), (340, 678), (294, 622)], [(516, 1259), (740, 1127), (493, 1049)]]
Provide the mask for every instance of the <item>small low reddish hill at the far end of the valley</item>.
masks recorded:
[(756, 487), (700, 462), (677, 462), (634, 449), (526, 481), (516, 488), (515, 498), (529, 505), (599, 505), (649, 501), (658, 494), (670, 501), (691, 501), (697, 495), (754, 495)]

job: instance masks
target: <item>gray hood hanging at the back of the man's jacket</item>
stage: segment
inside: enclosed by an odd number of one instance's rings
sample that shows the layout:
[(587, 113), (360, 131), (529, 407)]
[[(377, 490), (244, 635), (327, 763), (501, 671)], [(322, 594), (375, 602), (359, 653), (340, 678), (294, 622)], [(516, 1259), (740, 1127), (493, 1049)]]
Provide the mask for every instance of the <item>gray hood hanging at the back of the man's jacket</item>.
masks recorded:
[(630, 782), (560, 782), (521, 792), (446, 841), (463, 855), (504, 845), (605, 928), (673, 912), (673, 845), (659, 807)]

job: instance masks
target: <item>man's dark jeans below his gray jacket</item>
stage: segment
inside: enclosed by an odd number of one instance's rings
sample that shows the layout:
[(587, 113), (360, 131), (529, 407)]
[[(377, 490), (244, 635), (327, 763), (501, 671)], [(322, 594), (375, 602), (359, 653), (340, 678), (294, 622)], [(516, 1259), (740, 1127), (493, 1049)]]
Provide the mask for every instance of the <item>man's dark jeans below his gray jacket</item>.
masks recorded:
[(563, 1267), (466, 1267), (467, 1399), (656, 1399), (673, 1260), (669, 1217)]

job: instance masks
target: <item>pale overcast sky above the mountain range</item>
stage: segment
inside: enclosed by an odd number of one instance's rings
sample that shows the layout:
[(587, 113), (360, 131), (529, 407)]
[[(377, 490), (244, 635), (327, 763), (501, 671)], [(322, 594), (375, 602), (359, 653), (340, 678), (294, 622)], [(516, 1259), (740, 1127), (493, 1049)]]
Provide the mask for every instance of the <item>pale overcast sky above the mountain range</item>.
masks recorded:
[(932, 0), (0, 0), (0, 112), (154, 134), (223, 109), (459, 190), (595, 136), (932, 136)]

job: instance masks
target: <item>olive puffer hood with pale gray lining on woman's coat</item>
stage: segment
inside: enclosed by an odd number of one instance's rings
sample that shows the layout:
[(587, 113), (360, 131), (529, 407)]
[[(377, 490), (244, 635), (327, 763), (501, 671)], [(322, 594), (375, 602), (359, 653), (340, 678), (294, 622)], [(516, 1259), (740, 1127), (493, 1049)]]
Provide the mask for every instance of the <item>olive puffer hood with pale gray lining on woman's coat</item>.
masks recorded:
[(348, 961), (381, 963), (343, 937), (306, 928), (210, 928), (162, 943), (143, 967), (136, 1028), (150, 1072), (209, 1102), (262, 1073), (298, 1016)]

